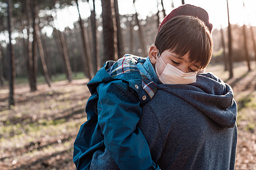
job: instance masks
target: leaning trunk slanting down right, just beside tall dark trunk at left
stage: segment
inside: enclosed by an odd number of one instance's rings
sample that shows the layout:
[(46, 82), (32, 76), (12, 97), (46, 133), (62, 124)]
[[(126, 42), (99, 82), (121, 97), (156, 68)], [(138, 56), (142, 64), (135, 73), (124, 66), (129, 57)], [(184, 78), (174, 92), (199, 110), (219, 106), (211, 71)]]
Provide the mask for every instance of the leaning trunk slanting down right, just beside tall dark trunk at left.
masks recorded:
[[(34, 17), (37, 18), (38, 17), (38, 4), (37, 4), (37, 0), (34, 1)], [(40, 31), (39, 31), (39, 26), (38, 23), (35, 23), (34, 25), (35, 29), (35, 36), (36, 36), (36, 42), (38, 44), (38, 49), (39, 49), (39, 54), (40, 54), (40, 59), (42, 62), (42, 66), (43, 66), (43, 71), (44, 71), (44, 78), (46, 79), (46, 83), (48, 84), (49, 87), (51, 87), (51, 79), (49, 78), (49, 73), (48, 73), (48, 69), (46, 66), (46, 58), (44, 57), (44, 50), (43, 50), (43, 45), (42, 45), (42, 41), (41, 41), (41, 37), (40, 37)]]

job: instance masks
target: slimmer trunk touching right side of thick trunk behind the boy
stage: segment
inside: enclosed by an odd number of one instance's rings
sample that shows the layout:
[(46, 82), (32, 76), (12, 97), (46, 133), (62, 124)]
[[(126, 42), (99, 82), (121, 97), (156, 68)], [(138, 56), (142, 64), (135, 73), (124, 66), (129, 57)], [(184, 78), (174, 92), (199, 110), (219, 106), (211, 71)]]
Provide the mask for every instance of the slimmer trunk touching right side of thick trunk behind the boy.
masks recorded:
[(117, 56), (118, 58), (123, 57), (123, 36), (122, 29), (120, 26), (118, 2), (114, 0), (114, 10), (115, 10), (115, 23), (117, 24)]

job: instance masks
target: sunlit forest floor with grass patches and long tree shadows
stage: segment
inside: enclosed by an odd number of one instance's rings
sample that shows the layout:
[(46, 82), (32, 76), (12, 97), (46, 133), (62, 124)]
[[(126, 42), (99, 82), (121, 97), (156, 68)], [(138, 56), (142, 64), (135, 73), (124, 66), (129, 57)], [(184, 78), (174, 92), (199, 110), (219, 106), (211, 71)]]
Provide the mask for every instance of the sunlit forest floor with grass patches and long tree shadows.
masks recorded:
[[(238, 104), (236, 169), (256, 169), (256, 68), (234, 65), (234, 78), (211, 64), (212, 71), (229, 83)], [(8, 108), (9, 89), (0, 87), (0, 169), (76, 169), (73, 142), (86, 121), (90, 96), (88, 79), (38, 84), (30, 92), (26, 84), (15, 86), (15, 106)]]

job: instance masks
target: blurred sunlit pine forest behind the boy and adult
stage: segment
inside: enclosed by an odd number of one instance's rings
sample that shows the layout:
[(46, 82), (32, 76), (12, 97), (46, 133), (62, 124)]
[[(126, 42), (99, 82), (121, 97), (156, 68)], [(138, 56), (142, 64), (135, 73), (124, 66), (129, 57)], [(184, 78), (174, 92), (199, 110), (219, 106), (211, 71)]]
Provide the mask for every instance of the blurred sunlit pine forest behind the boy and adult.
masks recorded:
[(107, 60), (147, 57), (174, 8), (204, 8), (213, 24), (207, 71), (238, 103), (236, 169), (256, 169), (256, 1), (0, 1), (0, 169), (75, 169), (86, 83)]

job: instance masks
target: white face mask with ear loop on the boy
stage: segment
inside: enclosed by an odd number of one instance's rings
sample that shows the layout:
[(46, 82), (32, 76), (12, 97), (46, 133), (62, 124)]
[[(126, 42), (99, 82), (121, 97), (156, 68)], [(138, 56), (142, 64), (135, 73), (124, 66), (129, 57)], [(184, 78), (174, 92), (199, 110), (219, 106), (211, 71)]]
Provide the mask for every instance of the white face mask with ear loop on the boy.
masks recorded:
[[(158, 54), (160, 59), (163, 62), (163, 59), (161, 58), (159, 51), (158, 51)], [(161, 83), (191, 84), (196, 82), (196, 72), (184, 73), (183, 71), (177, 69), (175, 66), (172, 66), (170, 63), (167, 63), (167, 65), (164, 63), (164, 65), (166, 67), (164, 68), (163, 73), (159, 75), (158, 69), (156, 69), (156, 63), (155, 63), (155, 71)]]

